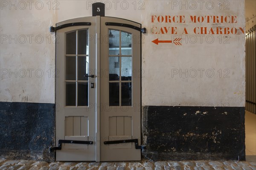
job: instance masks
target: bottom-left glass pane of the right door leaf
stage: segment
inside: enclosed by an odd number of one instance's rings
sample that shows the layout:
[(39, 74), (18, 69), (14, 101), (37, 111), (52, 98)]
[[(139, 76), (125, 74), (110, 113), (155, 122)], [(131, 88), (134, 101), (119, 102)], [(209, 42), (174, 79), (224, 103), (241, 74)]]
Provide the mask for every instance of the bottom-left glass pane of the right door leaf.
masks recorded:
[(119, 106), (119, 82), (109, 83), (109, 105)]

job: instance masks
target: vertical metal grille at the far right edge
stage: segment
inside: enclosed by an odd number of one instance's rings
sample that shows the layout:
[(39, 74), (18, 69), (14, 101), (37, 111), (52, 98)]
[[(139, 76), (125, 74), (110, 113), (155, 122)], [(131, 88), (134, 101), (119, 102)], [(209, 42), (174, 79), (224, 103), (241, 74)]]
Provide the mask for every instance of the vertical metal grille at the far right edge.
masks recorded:
[(246, 33), (246, 104), (245, 109), (256, 113), (256, 25)]

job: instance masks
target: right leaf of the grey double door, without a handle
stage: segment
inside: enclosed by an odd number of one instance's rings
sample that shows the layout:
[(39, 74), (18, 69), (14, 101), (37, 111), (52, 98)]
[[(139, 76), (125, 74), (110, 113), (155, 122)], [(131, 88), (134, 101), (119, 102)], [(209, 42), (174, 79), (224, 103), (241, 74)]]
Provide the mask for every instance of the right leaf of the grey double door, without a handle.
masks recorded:
[[(140, 160), (134, 143), (104, 144), (105, 141), (140, 141), (140, 31), (107, 22), (140, 24), (118, 18), (101, 17), (101, 161)], [(104, 39), (106, 40), (106, 39)], [(136, 108), (137, 107), (137, 108)], [(140, 144), (140, 142), (139, 142)]]

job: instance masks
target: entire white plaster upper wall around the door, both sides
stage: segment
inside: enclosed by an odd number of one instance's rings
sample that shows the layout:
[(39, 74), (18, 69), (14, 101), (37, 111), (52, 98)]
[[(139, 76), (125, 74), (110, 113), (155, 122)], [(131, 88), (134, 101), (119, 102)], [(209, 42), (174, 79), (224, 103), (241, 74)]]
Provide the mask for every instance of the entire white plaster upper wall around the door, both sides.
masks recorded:
[[(36, 1), (35, 1), (36, 2)], [(42, 35), (44, 42), (38, 44), (30, 43), (9, 43), (5, 40), (0, 47), (0, 101), (6, 102), (55, 102), (54, 85), (52, 76), (55, 65), (55, 45), (49, 43), (49, 26), (55, 23), (76, 18), (91, 16), (91, 3), (96, 1), (81, 0), (59, 0), (58, 10), (53, 10), (55, 1), (50, 1), (52, 6), (49, 10), (48, 1), (44, 2), (41, 10), (35, 7), (30, 10), (9, 10), (3, 7), (0, 13), (1, 35)], [(99, 1), (97, 1), (99, 2)], [(219, 42), (219, 35), (213, 35), (214, 42), (207, 43), (205, 37), (200, 43), (186, 43), (182, 40), (182, 45), (172, 43), (162, 43), (159, 45), (151, 42), (156, 38), (160, 40), (173, 40), (171, 34), (151, 34), (152, 26), (177, 26), (177, 35), (182, 34), (185, 26), (189, 30), (188, 36), (194, 27), (244, 27), (244, 0), (230, 0), (228, 10), (220, 10), (217, 1), (213, 1), (215, 8), (209, 10), (205, 4), (202, 9), (186, 9), (180, 6), (173, 6), (174, 1), (168, 0), (144, 0), (126, 1), (128, 9), (121, 7), (122, 1), (103, 1), (106, 3), (105, 15), (110, 17), (120, 17), (142, 23), (147, 28), (148, 33), (143, 35), (143, 80), (142, 99), (143, 105), (203, 105), (203, 106), (244, 106), (245, 103), (245, 52), (244, 34), (230, 35), (229, 44), (224, 44), (224, 40)], [(110, 2), (110, 3), (109, 3)], [(177, 1), (180, 2), (180, 1)], [(184, 1), (183, 1), (184, 2)], [(187, 1), (188, 3), (191, 1)], [(198, 3), (198, 1), (195, 1)], [(207, 3), (208, 1), (204, 1)], [(221, 7), (224, 8), (224, 1)], [(115, 6), (116, 3), (116, 6)], [(111, 6), (110, 6), (111, 4)], [(125, 5), (125, 4), (123, 4)], [(140, 6), (143, 5), (141, 8)], [(198, 4), (199, 5), (199, 4)], [(222, 8), (222, 9), (223, 9)], [(151, 23), (151, 15), (234, 15), (237, 16), (238, 23)], [(223, 38), (224, 35), (221, 37)], [(1, 37), (2, 40), (2, 37)], [(32, 38), (33, 40), (33, 38)], [(32, 77), (22, 78), (13, 74), (9, 75), (9, 69), (34, 69)], [(5, 74), (3, 71), (8, 71)], [(35, 71), (41, 69), (43, 77), (35, 76)], [(180, 71), (203, 71), (202, 76), (179, 74)], [(202, 70), (203, 69), (203, 70)], [(221, 75), (220, 75), (221, 69)], [(49, 70), (52, 73), (49, 76)], [(206, 74), (206, 71), (213, 71), (214, 76)], [(47, 72), (48, 71), (48, 72)], [(178, 74), (174, 74), (179, 71)], [(39, 72), (38, 72), (39, 73)], [(189, 73), (189, 72), (188, 72)], [(190, 72), (192, 73), (192, 72)], [(228, 73), (228, 74), (227, 74)], [(224, 77), (224, 75), (226, 77)]]

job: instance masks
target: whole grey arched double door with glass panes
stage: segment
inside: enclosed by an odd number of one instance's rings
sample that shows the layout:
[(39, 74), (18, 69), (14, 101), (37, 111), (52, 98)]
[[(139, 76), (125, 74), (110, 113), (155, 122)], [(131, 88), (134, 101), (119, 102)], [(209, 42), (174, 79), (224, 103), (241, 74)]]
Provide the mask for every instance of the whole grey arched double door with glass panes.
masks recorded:
[(56, 160), (140, 160), (140, 24), (96, 16), (56, 26)]

